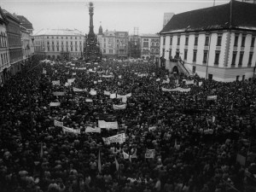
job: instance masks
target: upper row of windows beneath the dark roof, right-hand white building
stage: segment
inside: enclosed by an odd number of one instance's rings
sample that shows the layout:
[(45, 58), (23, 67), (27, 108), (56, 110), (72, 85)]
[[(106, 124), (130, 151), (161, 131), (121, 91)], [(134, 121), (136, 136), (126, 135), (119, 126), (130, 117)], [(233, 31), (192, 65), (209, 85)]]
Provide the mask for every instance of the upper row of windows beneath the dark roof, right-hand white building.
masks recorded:
[[(238, 38), (239, 38), (239, 34), (236, 34), (235, 42), (234, 42), (235, 47), (237, 47), (238, 45)], [(245, 47), (246, 38), (247, 38), (246, 35), (242, 35), (241, 47)], [(209, 35), (206, 35), (205, 46), (209, 45), (209, 39), (210, 39)], [(221, 46), (221, 41), (222, 41), (222, 34), (218, 34), (216, 46)], [(251, 40), (251, 47), (254, 47), (254, 42), (255, 42), (255, 37), (253, 37)], [(166, 38), (163, 39), (163, 45), (166, 45)], [(172, 45), (172, 37), (170, 38), (170, 45)], [(177, 37), (177, 45), (180, 45), (180, 36)], [(185, 45), (189, 45), (189, 36), (186, 36), (185, 38)], [(194, 45), (195, 46), (198, 45), (198, 35), (195, 36)]]

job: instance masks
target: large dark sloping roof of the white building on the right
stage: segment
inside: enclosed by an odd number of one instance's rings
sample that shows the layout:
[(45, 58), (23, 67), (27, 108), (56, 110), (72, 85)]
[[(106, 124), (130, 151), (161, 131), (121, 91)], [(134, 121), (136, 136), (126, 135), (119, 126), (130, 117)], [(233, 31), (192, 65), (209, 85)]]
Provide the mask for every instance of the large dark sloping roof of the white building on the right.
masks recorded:
[(216, 29), (256, 31), (255, 18), (256, 4), (231, 0), (230, 3), (223, 5), (173, 15), (172, 20), (169, 20), (160, 33), (211, 31)]

